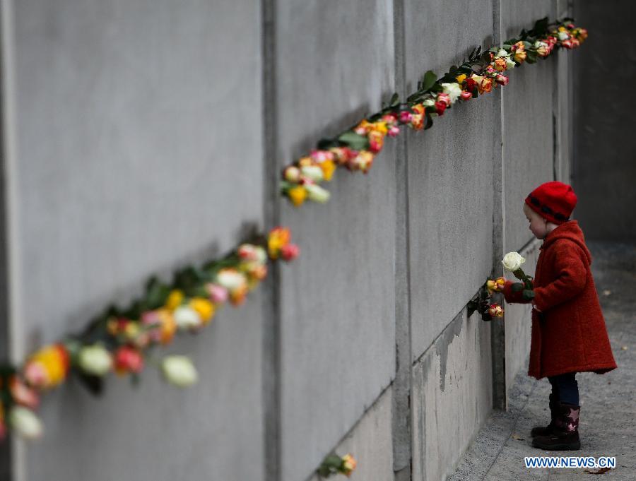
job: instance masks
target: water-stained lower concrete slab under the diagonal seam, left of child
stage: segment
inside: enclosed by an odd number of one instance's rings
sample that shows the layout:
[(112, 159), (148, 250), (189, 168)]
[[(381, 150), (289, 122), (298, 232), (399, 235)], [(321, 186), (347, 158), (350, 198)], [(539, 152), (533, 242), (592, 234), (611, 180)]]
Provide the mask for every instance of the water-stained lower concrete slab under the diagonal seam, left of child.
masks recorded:
[(413, 480), (444, 480), (493, 405), (490, 325), (461, 311), (413, 366)]

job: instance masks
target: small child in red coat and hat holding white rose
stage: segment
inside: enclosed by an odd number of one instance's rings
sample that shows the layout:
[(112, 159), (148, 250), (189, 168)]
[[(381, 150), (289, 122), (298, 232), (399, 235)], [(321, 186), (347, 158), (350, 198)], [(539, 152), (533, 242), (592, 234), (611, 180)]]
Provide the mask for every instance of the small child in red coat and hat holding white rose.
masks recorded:
[(546, 427), (535, 427), (532, 445), (546, 450), (580, 449), (577, 372), (616, 369), (605, 320), (590, 271), (591, 256), (576, 220), (577, 197), (562, 182), (541, 184), (526, 198), (530, 230), (543, 239), (533, 283), (534, 298), (506, 281), (507, 302), (532, 303), (529, 376), (552, 385)]

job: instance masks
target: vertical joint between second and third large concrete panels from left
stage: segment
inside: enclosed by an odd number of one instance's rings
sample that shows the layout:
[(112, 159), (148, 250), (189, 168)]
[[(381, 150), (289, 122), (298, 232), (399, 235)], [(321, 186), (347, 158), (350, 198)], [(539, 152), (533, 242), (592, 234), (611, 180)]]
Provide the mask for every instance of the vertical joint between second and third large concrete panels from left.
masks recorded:
[[(395, 90), (406, 95), (404, 0), (393, 2)], [(408, 230), (408, 157), (406, 131), (395, 149), (395, 357), (396, 372), (391, 399), (391, 432), (394, 481), (412, 479), (411, 427), (411, 292)]]

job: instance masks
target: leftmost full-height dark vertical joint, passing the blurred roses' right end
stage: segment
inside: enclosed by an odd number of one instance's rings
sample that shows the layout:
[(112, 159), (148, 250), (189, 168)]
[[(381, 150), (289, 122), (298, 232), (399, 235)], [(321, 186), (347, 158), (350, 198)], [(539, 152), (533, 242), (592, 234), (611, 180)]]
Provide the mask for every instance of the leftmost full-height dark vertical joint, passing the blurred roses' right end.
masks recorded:
[[(261, 0), (261, 69), (264, 230), (278, 225), (278, 93), (276, 91), (276, 0)], [(281, 480), (281, 274), (276, 263), (263, 290), (262, 388), (264, 480)]]

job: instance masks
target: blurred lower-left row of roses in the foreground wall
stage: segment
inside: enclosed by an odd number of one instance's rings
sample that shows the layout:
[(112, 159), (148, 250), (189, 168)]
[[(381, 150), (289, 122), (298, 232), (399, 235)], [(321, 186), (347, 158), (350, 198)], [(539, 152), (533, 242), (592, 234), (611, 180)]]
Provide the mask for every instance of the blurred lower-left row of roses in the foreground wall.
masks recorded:
[(158, 361), (151, 357), (154, 348), (170, 344), (177, 333), (199, 333), (223, 304), (240, 306), (266, 277), (268, 258), (291, 261), (298, 254), (290, 230), (276, 227), (222, 259), (177, 271), (170, 284), (151, 278), (145, 295), (128, 308), (108, 308), (81, 333), (40, 348), (20, 367), (0, 365), (0, 439), (8, 429), (27, 439), (41, 437), (35, 414), (40, 395), (71, 374), (99, 395), (110, 372), (130, 376), (136, 384), (148, 361), (170, 384), (192, 386), (198, 374), (189, 357), (167, 355)]

